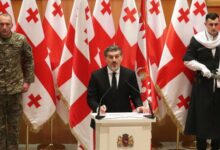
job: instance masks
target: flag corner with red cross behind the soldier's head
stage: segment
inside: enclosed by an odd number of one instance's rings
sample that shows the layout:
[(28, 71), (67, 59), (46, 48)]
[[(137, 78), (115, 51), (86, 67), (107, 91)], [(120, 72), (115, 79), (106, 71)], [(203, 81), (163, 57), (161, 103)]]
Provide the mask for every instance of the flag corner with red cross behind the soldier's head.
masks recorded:
[(12, 31), (15, 31), (16, 24), (15, 24), (13, 8), (11, 5), (11, 0), (0, 0), (0, 14), (2, 13), (8, 13), (11, 15), (12, 23), (13, 23)]

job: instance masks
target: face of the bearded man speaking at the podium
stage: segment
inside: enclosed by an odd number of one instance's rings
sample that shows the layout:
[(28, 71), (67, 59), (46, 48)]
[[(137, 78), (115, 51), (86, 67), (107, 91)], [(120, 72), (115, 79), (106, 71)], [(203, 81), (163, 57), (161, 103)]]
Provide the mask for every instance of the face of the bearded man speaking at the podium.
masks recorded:
[(116, 71), (121, 65), (122, 54), (120, 51), (108, 52), (105, 61), (112, 71)]

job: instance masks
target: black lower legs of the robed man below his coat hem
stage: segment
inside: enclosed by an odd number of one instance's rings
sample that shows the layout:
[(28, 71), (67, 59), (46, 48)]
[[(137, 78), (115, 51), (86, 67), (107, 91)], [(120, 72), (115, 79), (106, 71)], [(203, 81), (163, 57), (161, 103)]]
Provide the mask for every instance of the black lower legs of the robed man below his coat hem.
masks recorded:
[[(206, 150), (207, 148), (207, 139), (196, 137), (196, 147), (198, 150)], [(211, 150), (220, 149), (220, 139), (211, 139)]]

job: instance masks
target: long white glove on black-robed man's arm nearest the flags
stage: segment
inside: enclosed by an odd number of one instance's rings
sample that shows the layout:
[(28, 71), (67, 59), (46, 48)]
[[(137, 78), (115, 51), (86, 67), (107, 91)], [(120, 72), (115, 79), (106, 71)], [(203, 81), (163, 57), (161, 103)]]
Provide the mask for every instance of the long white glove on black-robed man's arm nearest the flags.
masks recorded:
[(212, 73), (210, 72), (210, 70), (205, 65), (199, 63), (196, 60), (184, 61), (184, 64), (187, 68), (193, 71), (197, 71), (197, 70), (202, 71), (203, 77), (210, 78), (212, 76)]

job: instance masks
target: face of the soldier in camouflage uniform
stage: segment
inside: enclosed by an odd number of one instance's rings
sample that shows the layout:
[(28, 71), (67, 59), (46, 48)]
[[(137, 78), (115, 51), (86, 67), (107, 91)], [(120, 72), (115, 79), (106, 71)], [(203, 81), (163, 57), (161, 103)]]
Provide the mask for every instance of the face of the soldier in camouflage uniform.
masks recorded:
[(10, 16), (0, 16), (0, 36), (8, 38), (11, 36), (12, 21)]

